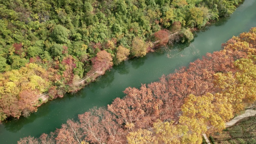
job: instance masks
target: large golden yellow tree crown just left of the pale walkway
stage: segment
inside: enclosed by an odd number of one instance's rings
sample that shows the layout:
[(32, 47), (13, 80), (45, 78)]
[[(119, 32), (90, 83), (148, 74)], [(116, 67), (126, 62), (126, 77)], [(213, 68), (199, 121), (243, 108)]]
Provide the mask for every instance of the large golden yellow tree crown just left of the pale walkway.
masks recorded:
[[(180, 116), (179, 125), (186, 126), (181, 142), (183, 144), (197, 144), (202, 141), (202, 134), (221, 132), (225, 128), (226, 120), (233, 116), (230, 104), (225, 105), (228, 99), (221, 95), (207, 93), (202, 96), (189, 95), (182, 106), (183, 115)], [(221, 107), (216, 107), (221, 106)], [(185, 128), (183, 128), (185, 129)]]

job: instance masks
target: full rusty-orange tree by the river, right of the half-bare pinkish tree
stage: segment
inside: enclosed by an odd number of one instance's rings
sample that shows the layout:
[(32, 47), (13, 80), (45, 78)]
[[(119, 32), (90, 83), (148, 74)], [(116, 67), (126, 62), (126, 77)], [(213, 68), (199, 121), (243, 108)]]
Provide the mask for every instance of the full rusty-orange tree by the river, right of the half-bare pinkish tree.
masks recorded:
[[(127, 95), (123, 99), (116, 98), (108, 105), (108, 110), (118, 117), (116, 120), (120, 125), (123, 123), (129, 125), (150, 115), (153, 108), (152, 95), (146, 85), (142, 85), (140, 89), (127, 88), (124, 92)], [(147, 121), (149, 122), (150, 119)]]

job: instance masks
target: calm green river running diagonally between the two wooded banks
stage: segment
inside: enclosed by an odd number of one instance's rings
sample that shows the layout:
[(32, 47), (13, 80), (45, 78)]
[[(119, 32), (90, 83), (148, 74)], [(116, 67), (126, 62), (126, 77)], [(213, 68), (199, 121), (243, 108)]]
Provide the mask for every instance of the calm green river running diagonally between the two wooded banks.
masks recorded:
[(207, 52), (220, 50), (221, 44), (232, 36), (256, 27), (255, 7), (255, 0), (245, 0), (230, 18), (220, 19), (197, 32), (193, 42), (125, 61), (76, 94), (66, 94), (62, 99), (43, 104), (30, 117), (3, 122), (0, 144), (16, 144), (22, 137), (39, 137), (42, 133), (55, 131), (67, 119), (76, 120), (78, 114), (89, 108), (106, 106), (114, 98), (123, 97), (122, 91), (129, 86), (139, 88), (141, 83), (157, 81), (162, 74), (173, 73)]

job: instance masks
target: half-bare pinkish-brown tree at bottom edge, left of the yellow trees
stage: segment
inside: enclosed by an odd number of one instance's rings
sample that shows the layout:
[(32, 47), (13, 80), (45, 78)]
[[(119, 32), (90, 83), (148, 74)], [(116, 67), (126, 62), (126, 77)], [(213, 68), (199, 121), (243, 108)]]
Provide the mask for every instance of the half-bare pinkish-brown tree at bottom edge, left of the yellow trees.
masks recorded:
[(103, 144), (107, 141), (116, 144), (124, 143), (122, 130), (114, 121), (115, 116), (106, 109), (92, 108), (78, 117), (83, 134), (86, 135), (85, 139), (90, 143)]

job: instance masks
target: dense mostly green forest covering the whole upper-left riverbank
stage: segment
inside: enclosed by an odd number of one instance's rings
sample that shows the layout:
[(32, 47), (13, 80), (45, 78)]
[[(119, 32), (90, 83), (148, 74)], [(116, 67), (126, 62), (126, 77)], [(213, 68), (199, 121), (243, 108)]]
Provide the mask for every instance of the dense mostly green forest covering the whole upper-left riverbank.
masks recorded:
[(153, 41), (170, 33), (179, 32), (176, 42), (190, 41), (190, 28), (231, 15), (239, 3), (1, 0), (0, 120), (28, 116), (42, 104), (39, 94), (49, 91), (50, 99), (62, 97), (82, 77), (144, 56)]

